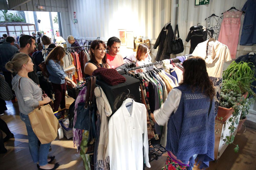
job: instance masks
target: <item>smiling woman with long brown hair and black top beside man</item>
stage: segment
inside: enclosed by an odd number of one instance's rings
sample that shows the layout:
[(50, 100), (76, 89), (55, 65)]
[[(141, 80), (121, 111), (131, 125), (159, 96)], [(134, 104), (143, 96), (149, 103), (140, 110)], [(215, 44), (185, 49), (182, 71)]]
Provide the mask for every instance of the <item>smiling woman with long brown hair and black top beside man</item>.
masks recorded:
[(85, 78), (99, 67), (109, 68), (106, 57), (106, 45), (103, 41), (94, 40), (90, 47), (91, 60), (84, 65)]

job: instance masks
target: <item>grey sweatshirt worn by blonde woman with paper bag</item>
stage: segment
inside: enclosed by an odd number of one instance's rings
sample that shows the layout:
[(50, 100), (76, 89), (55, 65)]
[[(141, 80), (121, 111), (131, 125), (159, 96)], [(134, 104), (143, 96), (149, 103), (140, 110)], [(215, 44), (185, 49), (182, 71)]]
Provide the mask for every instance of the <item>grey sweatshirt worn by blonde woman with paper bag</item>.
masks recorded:
[(18, 100), (19, 111), (23, 114), (29, 114), (33, 109), (39, 106), (39, 101), (42, 100), (41, 88), (31, 79), (22, 77), (18, 74), (13, 77), (12, 85), (15, 95)]

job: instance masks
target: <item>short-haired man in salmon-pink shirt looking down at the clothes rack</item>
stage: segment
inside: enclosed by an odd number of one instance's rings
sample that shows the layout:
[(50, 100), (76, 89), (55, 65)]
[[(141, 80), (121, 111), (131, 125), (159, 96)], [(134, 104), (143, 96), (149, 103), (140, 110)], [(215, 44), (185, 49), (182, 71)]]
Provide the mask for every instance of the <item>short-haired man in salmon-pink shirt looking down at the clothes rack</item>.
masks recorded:
[(107, 63), (109, 64), (110, 68), (115, 69), (116, 67), (121, 66), (124, 64), (123, 57), (118, 54), (120, 48), (121, 41), (118, 37), (111, 37), (107, 42), (109, 52), (107, 55)]

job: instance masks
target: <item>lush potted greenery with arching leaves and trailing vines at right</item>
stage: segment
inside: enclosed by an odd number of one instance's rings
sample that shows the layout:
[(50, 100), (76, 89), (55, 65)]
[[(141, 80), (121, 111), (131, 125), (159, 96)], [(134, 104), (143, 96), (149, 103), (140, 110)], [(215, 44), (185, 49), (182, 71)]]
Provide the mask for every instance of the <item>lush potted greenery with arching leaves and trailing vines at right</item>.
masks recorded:
[[(236, 63), (233, 61), (228, 69), (223, 72), (220, 106), (233, 108), (232, 117), (228, 120), (231, 122), (229, 135), (224, 139), (227, 144), (234, 144), (235, 125), (239, 124), (239, 120), (246, 119), (250, 104), (254, 101), (255, 93), (251, 90), (251, 87), (252, 82), (255, 80), (254, 65), (252, 63), (242, 61)], [(242, 126), (242, 122), (240, 126)], [(239, 146), (235, 146), (234, 151), (238, 152)]]

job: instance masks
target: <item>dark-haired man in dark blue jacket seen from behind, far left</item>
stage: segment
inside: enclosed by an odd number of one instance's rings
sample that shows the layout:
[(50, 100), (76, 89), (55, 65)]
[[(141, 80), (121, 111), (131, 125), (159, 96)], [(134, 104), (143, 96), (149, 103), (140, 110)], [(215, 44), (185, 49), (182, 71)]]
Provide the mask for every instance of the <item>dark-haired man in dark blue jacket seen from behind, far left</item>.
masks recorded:
[(10, 60), (10, 58), (12, 58), (15, 52), (18, 51), (18, 48), (14, 47), (11, 43), (12, 44), (14, 43), (14, 38), (6, 37), (6, 41), (0, 45), (0, 54), (1, 54), (0, 67), (1, 67), (1, 70), (3, 71), (5, 81), (8, 83), (8, 85), (12, 89), (12, 73), (5, 69), (5, 64)]

